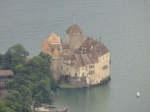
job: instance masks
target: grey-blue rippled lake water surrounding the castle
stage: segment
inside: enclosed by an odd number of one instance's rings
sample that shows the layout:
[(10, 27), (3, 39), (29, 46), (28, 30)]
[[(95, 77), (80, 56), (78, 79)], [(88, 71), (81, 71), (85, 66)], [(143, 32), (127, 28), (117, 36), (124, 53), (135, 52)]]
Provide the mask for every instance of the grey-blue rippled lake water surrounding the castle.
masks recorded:
[(101, 37), (109, 48), (112, 80), (59, 91), (54, 105), (69, 112), (149, 112), (150, 0), (1, 0), (0, 53), (21, 43), (37, 55), (52, 32), (64, 41), (74, 11), (84, 35)]

